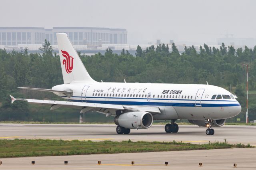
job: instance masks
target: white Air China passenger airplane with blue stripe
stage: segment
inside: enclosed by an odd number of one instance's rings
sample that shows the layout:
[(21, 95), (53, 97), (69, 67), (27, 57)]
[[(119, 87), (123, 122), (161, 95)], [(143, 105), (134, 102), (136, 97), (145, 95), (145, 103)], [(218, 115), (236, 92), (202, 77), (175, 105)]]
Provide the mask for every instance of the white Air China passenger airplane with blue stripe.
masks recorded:
[[(15, 99), (50, 105), (50, 110), (60, 107), (80, 109), (80, 113), (96, 111), (106, 117), (113, 116), (118, 134), (129, 134), (130, 129), (150, 128), (154, 120), (170, 120), (164, 130), (176, 133), (175, 121), (188, 119), (192, 124), (207, 127), (206, 134), (213, 135), (212, 127), (221, 127), (226, 119), (241, 112), (241, 106), (226, 89), (203, 84), (164, 83), (108, 83), (90, 77), (67, 34), (57, 33), (60, 64), (64, 84), (52, 89), (18, 87), (20, 89), (52, 92), (66, 101)], [(97, 65), (95, 65), (97, 67)]]

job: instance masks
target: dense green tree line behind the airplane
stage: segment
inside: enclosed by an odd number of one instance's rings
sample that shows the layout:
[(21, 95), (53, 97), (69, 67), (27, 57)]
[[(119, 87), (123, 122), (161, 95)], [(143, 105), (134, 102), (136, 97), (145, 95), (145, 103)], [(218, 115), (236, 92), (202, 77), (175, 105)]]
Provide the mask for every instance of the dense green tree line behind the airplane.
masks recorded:
[[(169, 49), (170, 48), (170, 49)], [(52, 93), (18, 90), (17, 87), (52, 88), (62, 84), (62, 72), (59, 55), (52, 52), (49, 42), (40, 48), (42, 53), (24, 51), (6, 52), (0, 49), (0, 121), (28, 119), (35, 110), (25, 102), (15, 102), (10, 105), (9, 94), (17, 97), (35, 99), (60, 99)], [(217, 85), (238, 96), (242, 105), (242, 113), (237, 117), (244, 119), (246, 105), (246, 67), (249, 69), (249, 115), (256, 119), (256, 46), (235, 49), (233, 46), (219, 48), (204, 44), (196, 51), (194, 46), (185, 47), (180, 53), (174, 43), (159, 44), (147, 47), (138, 45), (136, 56), (122, 50), (121, 54), (106, 49), (104, 54), (96, 53), (88, 56), (78, 52), (87, 71), (96, 81), (104, 82), (140, 82), (140, 83), (189, 83)], [(231, 88), (230, 88), (231, 87)], [(49, 108), (48, 108), (49, 109)], [(60, 109), (65, 113), (66, 110)], [(70, 114), (78, 113), (70, 109)], [(55, 113), (49, 111), (49, 115)], [(10, 116), (11, 115), (11, 116)], [(17, 119), (18, 117), (18, 119)], [(22, 118), (23, 117), (23, 118)], [(33, 118), (36, 119), (36, 118)]]

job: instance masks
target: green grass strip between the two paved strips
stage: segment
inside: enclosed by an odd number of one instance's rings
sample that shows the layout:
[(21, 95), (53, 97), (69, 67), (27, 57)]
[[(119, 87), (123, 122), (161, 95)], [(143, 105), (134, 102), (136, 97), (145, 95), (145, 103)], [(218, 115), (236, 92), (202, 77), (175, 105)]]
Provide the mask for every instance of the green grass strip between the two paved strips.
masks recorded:
[(191, 144), (182, 142), (132, 142), (131, 140), (114, 141), (79, 141), (79, 140), (49, 140), (49, 139), (14, 139), (0, 140), (0, 158), (25, 156), (60, 156), (80, 154), (114, 154), (132, 152), (160, 152), (174, 150), (202, 150), (222, 148), (246, 148), (250, 144), (228, 144), (214, 142), (208, 144)]

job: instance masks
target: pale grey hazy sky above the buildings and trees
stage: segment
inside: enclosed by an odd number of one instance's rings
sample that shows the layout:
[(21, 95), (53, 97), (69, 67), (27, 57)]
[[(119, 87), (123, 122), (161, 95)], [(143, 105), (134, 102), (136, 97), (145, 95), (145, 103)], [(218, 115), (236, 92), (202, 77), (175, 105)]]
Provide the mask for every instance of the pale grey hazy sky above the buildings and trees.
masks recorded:
[(128, 43), (256, 38), (255, 0), (1, 0), (0, 27), (126, 28)]

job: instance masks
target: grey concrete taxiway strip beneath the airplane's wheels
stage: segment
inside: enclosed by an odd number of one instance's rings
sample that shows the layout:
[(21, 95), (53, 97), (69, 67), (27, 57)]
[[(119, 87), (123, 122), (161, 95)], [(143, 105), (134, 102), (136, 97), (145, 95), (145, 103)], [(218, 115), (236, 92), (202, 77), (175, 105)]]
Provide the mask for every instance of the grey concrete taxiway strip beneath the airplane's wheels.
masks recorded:
[(0, 124), (0, 139), (63, 139), (63, 140), (144, 140), (182, 141), (208, 143), (224, 139), (230, 144), (256, 146), (256, 126), (223, 126), (214, 128), (214, 135), (206, 135), (206, 128), (196, 125), (180, 125), (178, 133), (166, 133), (164, 125), (152, 125), (143, 130), (131, 130), (130, 134), (116, 134), (116, 125), (85, 124)]

